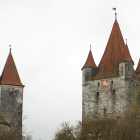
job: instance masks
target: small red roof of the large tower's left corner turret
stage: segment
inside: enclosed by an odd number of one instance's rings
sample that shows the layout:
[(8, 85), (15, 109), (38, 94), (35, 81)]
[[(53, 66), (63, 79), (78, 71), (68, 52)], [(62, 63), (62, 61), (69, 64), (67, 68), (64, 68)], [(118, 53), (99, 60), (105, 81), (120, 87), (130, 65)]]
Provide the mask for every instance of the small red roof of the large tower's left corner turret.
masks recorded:
[[(96, 66), (96, 64), (95, 64), (95, 62), (94, 62), (94, 59), (93, 59), (91, 50), (89, 51), (87, 60), (86, 60), (86, 62), (85, 62), (85, 65), (83, 66), (83, 68), (88, 68), (88, 67), (97, 68), (97, 66)], [(82, 68), (82, 69), (83, 69), (83, 68)]]

